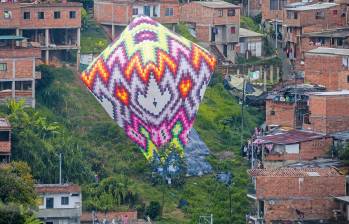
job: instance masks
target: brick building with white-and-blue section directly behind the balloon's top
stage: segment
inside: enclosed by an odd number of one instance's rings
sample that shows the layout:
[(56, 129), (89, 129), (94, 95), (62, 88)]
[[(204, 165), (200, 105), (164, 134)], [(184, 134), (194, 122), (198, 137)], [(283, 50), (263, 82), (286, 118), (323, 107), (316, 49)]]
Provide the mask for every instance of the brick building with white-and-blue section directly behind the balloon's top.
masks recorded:
[(115, 38), (138, 15), (149, 16), (169, 28), (174, 28), (179, 22), (179, 8), (176, 0), (96, 0), (94, 17)]

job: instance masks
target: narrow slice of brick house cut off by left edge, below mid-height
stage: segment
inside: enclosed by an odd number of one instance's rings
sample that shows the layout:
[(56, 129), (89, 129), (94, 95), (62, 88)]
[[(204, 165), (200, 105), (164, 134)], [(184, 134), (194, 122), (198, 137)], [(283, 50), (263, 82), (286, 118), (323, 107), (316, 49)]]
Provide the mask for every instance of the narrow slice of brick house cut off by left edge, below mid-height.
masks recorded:
[(0, 118), (0, 163), (11, 159), (11, 125), (5, 118)]

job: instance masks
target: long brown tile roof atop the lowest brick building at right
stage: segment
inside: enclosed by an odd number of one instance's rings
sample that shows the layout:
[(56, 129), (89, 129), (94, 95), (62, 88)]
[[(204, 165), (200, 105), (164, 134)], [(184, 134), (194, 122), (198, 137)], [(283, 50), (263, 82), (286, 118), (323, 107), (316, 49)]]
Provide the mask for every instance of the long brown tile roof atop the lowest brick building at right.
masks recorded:
[(252, 169), (250, 176), (266, 177), (320, 177), (340, 176), (335, 168), (280, 168), (280, 169)]

